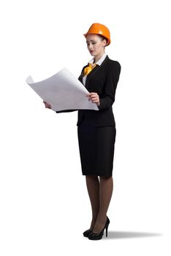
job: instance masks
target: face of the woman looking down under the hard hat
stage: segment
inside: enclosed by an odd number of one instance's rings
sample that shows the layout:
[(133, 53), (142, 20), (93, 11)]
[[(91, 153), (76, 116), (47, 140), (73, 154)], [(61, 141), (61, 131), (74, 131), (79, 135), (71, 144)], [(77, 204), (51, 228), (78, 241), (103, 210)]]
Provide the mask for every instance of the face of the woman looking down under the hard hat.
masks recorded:
[(87, 48), (92, 56), (99, 56), (104, 53), (106, 40), (99, 37), (98, 34), (88, 34), (86, 37)]

